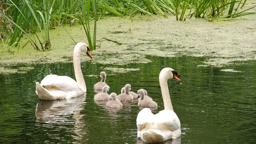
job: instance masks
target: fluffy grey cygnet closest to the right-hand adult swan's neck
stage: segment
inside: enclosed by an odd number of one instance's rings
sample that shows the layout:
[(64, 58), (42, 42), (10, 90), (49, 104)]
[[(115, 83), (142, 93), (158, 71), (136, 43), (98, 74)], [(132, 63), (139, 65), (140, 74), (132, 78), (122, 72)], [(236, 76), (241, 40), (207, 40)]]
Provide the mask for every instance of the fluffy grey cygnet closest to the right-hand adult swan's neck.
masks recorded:
[(157, 107), (157, 103), (154, 102), (152, 99), (144, 99), (144, 90), (140, 89), (138, 90), (138, 95), (140, 97), (138, 106), (143, 106), (143, 107)]

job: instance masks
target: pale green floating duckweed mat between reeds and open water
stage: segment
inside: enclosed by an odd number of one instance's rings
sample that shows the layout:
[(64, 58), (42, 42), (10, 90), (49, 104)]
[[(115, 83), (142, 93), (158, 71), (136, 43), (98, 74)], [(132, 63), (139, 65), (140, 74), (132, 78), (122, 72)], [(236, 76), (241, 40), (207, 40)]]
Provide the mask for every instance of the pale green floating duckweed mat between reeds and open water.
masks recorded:
[[(246, 7), (253, 5), (256, 3)], [(66, 28), (76, 42), (85, 42), (82, 26)], [(50, 31), (50, 36), (52, 50), (49, 52), (36, 52), (27, 44), (15, 54), (2, 54), (0, 73), (10, 74), (31, 69), (30, 66), (12, 68), (17, 64), (72, 62), (75, 44), (65, 31), (56, 27)], [(121, 42), (122, 45), (102, 38)], [(124, 65), (150, 62), (146, 55), (196, 56), (207, 57), (204, 64), (199, 66), (222, 67), (236, 61), (256, 60), (256, 15), (216, 22), (196, 18), (176, 21), (175, 16), (136, 16), (134, 22), (131, 22), (128, 18), (106, 16), (97, 23), (97, 40), (101, 48), (91, 52), (93, 63)], [(23, 46), (27, 41), (24, 37), (20, 45)], [(86, 60), (89, 58), (82, 58), (82, 61)]]

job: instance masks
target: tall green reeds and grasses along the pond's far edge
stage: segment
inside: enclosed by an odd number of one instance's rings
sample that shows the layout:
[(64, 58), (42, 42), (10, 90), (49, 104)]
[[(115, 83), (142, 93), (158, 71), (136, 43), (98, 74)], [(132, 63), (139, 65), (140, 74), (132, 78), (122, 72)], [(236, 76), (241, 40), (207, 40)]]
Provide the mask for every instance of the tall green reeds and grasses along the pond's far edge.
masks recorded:
[[(35, 50), (48, 51), (51, 49), (50, 29), (78, 23), (84, 25), (93, 50), (96, 48), (96, 22), (104, 15), (128, 16), (133, 20), (136, 14), (160, 14), (186, 20), (193, 16), (237, 18), (256, 14), (248, 12), (255, 6), (241, 10), (245, 3), (246, 0), (3, 0), (0, 1), (0, 38), (10, 53), (13, 53), (11, 47), (20, 48), (19, 41), (24, 34), (29, 38), (26, 44), (32, 44)], [(93, 30), (90, 28), (92, 20)]]

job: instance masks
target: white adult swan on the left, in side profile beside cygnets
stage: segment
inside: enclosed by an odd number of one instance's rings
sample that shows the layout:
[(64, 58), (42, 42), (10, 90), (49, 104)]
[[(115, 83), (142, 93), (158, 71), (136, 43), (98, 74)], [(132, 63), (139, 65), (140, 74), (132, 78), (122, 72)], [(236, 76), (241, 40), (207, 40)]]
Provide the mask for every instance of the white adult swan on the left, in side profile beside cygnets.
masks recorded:
[(92, 58), (90, 48), (87, 44), (83, 42), (76, 44), (73, 55), (76, 81), (68, 76), (57, 76), (55, 74), (47, 75), (44, 77), (41, 84), (36, 82), (36, 94), (40, 100), (74, 98), (86, 92), (86, 84), (84, 82), (80, 64), (81, 52), (85, 52), (90, 58)]

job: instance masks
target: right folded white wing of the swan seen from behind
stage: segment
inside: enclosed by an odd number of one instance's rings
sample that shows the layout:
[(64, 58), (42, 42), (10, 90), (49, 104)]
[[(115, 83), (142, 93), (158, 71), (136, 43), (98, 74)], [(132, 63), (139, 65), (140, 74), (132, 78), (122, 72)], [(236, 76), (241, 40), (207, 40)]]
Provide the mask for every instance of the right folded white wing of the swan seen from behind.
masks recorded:
[(172, 131), (180, 129), (180, 120), (172, 110), (161, 110), (159, 113), (155, 114), (154, 123), (164, 124)]

